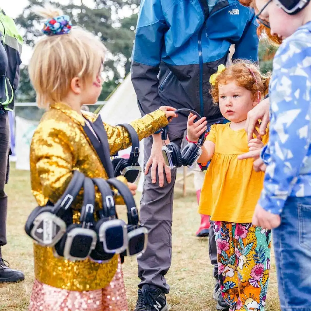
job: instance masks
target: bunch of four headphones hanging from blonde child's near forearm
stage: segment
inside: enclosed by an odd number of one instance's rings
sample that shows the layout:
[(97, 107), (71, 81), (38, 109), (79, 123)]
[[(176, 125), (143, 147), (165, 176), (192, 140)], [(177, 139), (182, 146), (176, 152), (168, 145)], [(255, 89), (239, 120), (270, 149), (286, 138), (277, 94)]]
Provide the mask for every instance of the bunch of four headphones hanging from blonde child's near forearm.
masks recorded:
[[(103, 208), (96, 211), (95, 188), (102, 196)], [(127, 207), (128, 224), (118, 219), (113, 192), (118, 190)], [(80, 223), (72, 222), (72, 206), (83, 186), (84, 197)], [(53, 247), (56, 257), (70, 261), (90, 258), (96, 262), (110, 260), (114, 254), (127, 256), (144, 253), (148, 231), (139, 225), (137, 207), (128, 187), (117, 179), (86, 178), (75, 171), (63, 196), (53, 205), (36, 207), (28, 217), (26, 233), (42, 246)]]

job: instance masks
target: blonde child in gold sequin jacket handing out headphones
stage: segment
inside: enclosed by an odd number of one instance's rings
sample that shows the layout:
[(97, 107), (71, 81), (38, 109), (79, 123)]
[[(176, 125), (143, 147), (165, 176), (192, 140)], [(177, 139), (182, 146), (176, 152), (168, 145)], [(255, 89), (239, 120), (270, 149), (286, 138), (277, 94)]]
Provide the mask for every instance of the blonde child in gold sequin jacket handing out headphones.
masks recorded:
[[(56, 9), (41, 9), (47, 18), (45, 36), (35, 45), (29, 74), (39, 107), (47, 109), (30, 147), (31, 188), (39, 206), (63, 194), (73, 171), (89, 178), (107, 179), (109, 174), (91, 144), (86, 129), (96, 136), (93, 123), (100, 117), (81, 111), (95, 104), (103, 83), (104, 45), (91, 33), (72, 27), (69, 16)], [(174, 117), (173, 108), (160, 109), (131, 123), (139, 139), (150, 136)], [(96, 123), (97, 124), (97, 123)], [(103, 123), (101, 123), (103, 124)], [(110, 155), (131, 145), (128, 132), (104, 123)], [(99, 139), (98, 139), (99, 140)], [(100, 141), (100, 140), (99, 140)], [(108, 156), (109, 158), (109, 156)], [(124, 183), (126, 179), (119, 177)], [(128, 187), (135, 193), (136, 186)], [(124, 204), (116, 195), (116, 204)], [(81, 195), (73, 207), (73, 223), (79, 222)], [(95, 210), (100, 209), (96, 192)], [(118, 254), (109, 262), (91, 259), (71, 262), (56, 258), (51, 247), (34, 245), (35, 283), (31, 311), (127, 310), (123, 273)]]

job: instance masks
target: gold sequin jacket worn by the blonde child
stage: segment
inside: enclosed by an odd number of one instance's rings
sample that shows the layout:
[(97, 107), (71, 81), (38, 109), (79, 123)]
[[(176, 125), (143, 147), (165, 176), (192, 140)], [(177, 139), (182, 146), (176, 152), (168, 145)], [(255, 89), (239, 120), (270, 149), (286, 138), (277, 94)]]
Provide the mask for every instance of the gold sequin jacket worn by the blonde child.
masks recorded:
[[(72, 170), (77, 169), (90, 178), (108, 176), (83, 130), (85, 119), (94, 122), (95, 114), (82, 111), (83, 116), (66, 104), (53, 104), (43, 115), (30, 146), (31, 189), (39, 206), (48, 200), (55, 203), (67, 187)], [(83, 118), (84, 117), (84, 118)], [(139, 139), (152, 135), (167, 124), (165, 113), (156, 110), (131, 122)], [(110, 155), (131, 145), (128, 132), (120, 126), (104, 123)], [(120, 178), (126, 182), (124, 177)], [(96, 189), (96, 188), (95, 188)], [(123, 200), (116, 194), (116, 204)], [(78, 223), (82, 205), (82, 190), (74, 204), (73, 221)], [(100, 194), (96, 189), (96, 208), (101, 208)], [(53, 256), (53, 249), (34, 244), (35, 278), (47, 285), (66, 290), (96, 290), (112, 280), (118, 266), (118, 255), (108, 263), (89, 259), (70, 262)]]

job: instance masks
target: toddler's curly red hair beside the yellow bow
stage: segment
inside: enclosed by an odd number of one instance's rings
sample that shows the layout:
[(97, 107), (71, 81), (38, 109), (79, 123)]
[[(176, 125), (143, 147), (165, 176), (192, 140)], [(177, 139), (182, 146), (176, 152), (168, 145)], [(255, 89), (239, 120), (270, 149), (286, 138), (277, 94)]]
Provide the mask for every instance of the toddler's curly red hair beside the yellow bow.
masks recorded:
[(215, 84), (211, 85), (210, 93), (213, 102), (218, 103), (219, 90), (218, 86), (235, 82), (238, 86), (246, 88), (251, 91), (253, 95), (257, 96), (260, 91), (262, 96), (265, 96), (269, 90), (269, 81), (271, 73), (262, 74), (259, 66), (246, 60), (235, 60), (230, 67), (225, 68), (215, 80)]

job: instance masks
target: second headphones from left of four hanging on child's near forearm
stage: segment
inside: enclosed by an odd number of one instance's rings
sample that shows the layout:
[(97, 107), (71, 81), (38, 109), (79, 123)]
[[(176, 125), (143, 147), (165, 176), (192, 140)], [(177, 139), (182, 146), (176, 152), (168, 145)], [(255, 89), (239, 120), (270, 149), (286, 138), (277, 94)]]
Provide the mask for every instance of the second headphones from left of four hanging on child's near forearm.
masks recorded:
[(85, 260), (95, 248), (97, 234), (94, 226), (95, 189), (90, 178), (84, 179), (84, 197), (80, 224), (69, 225), (63, 237), (54, 247), (56, 256), (70, 261)]

